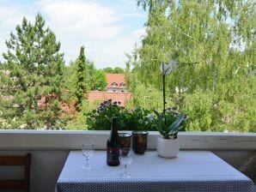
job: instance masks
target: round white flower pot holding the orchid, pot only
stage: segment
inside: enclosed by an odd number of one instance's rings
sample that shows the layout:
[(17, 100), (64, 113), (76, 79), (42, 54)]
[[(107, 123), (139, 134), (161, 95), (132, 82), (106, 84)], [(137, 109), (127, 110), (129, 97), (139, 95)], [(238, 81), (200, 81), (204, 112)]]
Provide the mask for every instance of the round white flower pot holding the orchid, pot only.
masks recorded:
[(156, 149), (157, 154), (163, 158), (175, 158), (180, 151), (179, 140), (158, 137)]

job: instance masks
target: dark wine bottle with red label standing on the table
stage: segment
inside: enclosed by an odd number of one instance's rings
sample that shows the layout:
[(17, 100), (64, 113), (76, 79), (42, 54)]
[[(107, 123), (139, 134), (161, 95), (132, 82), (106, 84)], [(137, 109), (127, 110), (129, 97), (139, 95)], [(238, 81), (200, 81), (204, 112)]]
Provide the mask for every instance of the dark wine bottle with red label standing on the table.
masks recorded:
[(107, 165), (118, 166), (119, 163), (119, 134), (118, 117), (112, 118), (111, 133), (107, 140)]

